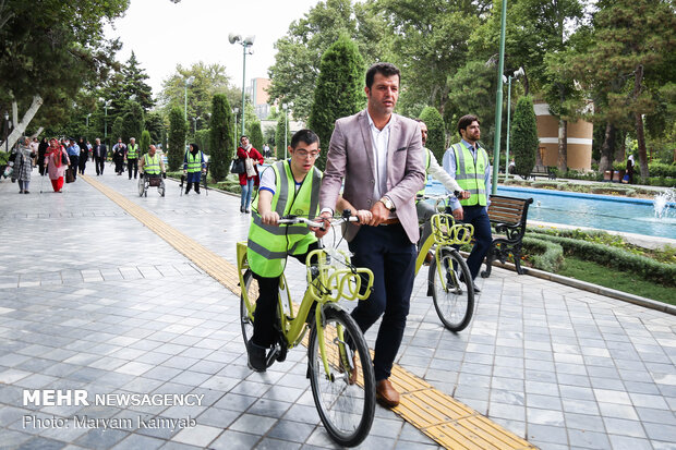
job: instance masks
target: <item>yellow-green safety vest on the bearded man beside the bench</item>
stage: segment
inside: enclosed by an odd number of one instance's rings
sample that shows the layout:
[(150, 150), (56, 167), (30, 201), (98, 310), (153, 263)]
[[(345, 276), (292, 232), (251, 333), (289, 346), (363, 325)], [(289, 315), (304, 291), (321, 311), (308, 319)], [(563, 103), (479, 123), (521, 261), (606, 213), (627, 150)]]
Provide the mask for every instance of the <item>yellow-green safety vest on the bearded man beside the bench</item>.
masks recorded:
[(481, 205), (486, 206), (486, 167), (490, 166), (486, 150), (479, 147), (476, 151), (476, 163), (470, 149), (463, 144), (458, 143), (451, 146), (456, 154), (456, 181), (462, 191), (469, 191), (470, 197), (460, 200), (462, 206)]

